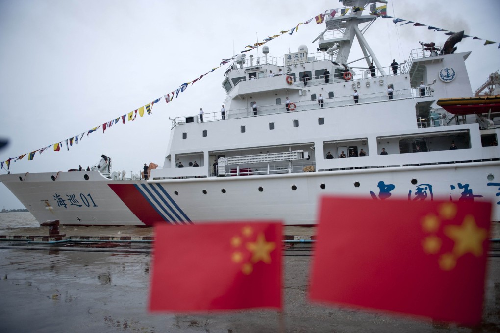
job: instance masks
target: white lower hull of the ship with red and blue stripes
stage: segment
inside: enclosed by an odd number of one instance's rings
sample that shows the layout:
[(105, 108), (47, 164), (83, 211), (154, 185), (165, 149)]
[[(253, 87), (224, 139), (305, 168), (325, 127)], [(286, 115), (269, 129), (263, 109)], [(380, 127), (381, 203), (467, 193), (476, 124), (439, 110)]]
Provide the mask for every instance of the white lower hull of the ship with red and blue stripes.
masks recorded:
[(491, 220), (499, 221), (500, 183), (488, 180), (499, 167), (500, 161), (486, 161), (147, 181), (63, 172), (54, 181), (51, 173), (2, 175), (0, 180), (39, 223), (59, 220), (63, 225), (151, 226), (248, 219), (314, 225), (322, 195), (488, 200), (493, 203)]

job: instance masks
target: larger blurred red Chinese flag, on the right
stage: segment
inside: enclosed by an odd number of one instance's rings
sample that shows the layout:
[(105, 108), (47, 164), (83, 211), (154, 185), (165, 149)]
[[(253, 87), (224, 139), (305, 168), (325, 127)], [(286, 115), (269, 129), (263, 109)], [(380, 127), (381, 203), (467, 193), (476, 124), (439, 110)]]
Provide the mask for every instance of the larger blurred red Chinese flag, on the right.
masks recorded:
[(490, 203), (325, 197), (320, 207), (311, 300), (480, 322)]

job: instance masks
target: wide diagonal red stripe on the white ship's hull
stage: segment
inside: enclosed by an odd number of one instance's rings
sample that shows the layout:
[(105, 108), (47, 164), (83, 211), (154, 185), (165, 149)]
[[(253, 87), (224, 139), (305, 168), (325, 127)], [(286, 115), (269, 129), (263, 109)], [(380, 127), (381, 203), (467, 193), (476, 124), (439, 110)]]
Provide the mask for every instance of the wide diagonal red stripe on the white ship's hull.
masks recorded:
[[(137, 190), (135, 184), (108, 184), (130, 211), (146, 226), (166, 221), (157, 209)], [(170, 223), (169, 221), (166, 221)]]

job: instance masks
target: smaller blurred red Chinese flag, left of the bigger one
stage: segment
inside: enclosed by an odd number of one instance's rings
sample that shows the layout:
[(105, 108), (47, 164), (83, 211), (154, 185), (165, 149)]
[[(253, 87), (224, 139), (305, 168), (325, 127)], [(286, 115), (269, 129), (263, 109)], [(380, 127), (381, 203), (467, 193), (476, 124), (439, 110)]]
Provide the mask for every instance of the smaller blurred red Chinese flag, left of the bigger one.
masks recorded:
[(281, 223), (155, 227), (149, 310), (281, 310)]

